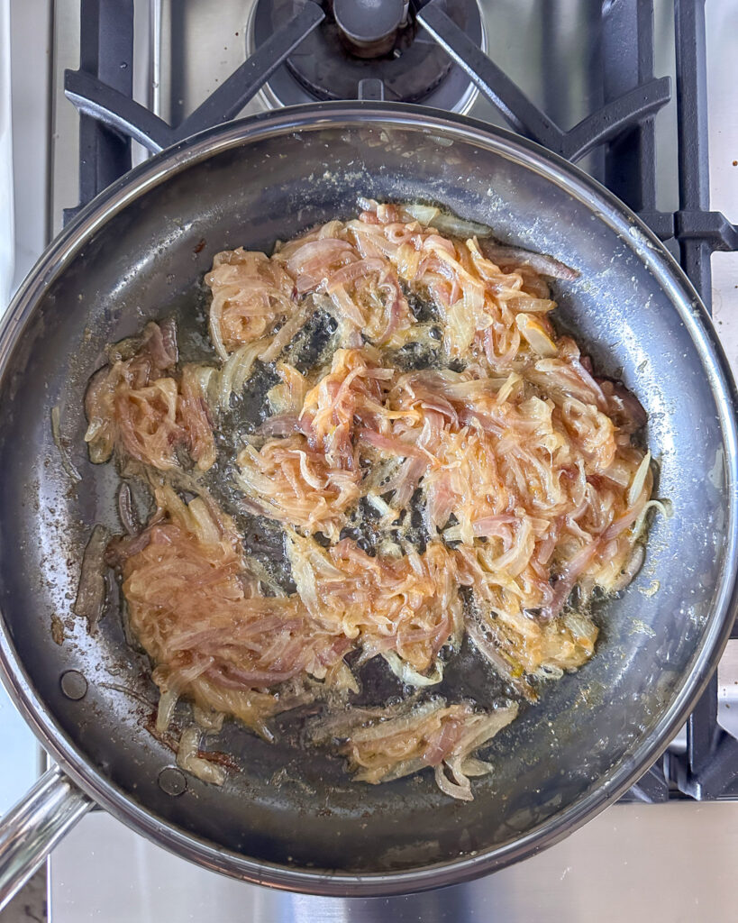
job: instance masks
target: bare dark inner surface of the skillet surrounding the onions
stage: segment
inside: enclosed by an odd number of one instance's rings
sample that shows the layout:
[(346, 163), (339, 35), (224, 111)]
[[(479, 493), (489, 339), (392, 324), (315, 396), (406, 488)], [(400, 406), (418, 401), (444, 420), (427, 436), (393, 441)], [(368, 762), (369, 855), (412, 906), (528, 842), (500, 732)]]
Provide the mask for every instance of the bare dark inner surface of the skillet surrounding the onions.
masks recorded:
[[(179, 828), (206, 841), (206, 853), (214, 845), (339, 875), (407, 871), (491, 847), (502, 858), (539, 825), (568, 824), (571, 806), (603, 804), (643, 760), (688, 677), (704, 673), (703, 648), (718, 641), (732, 587), (731, 386), (710, 366), (712, 347), (695, 319), (701, 309), (689, 306), (679, 282), (667, 279), (671, 288), (662, 288), (662, 257), (650, 238), (616, 217), (606, 199), (589, 198), (586, 185), (572, 193), (556, 169), (547, 175), (540, 154), (502, 133), (486, 144), (441, 122), (423, 126), (427, 116), (393, 126), (387, 117), (339, 115), (336, 109), (331, 124), (315, 119), (301, 130), (285, 116), (282, 129), (252, 140), (231, 128), (231, 143), (170, 170), (166, 182), (151, 182), (48, 278), (0, 381), (0, 607), (62, 746), (153, 815), (151, 829)], [(440, 794), (430, 773), (351, 785), (339, 761), (268, 746), (235, 725), (219, 747), (243, 773), (221, 789), (188, 779), (185, 794), (170, 797), (157, 780), (173, 754), (141, 724), (146, 710), (137, 697), (156, 698), (145, 662), (126, 647), (114, 611), (92, 639), (71, 616), (91, 524), (118, 528), (113, 471), (90, 465), (82, 441), (85, 385), (106, 342), (149, 318), (191, 317), (204, 305), (202, 276), (215, 252), (268, 247), (347, 216), (360, 194), (443, 204), (580, 270), (577, 282), (557, 291), (557, 315), (588, 344), (595, 367), (621, 376), (646, 406), (659, 494), (672, 500), (674, 515), (656, 519), (645, 567), (603, 609), (597, 656), (551, 684), (537, 707), (495, 739), (497, 772), (475, 784), (472, 803)], [(54, 405), (82, 473), (77, 487), (54, 447)], [(50, 633), (54, 616), (67, 626), (61, 646)], [(71, 667), (89, 681), (80, 701), (60, 692), (59, 677)], [(472, 673), (467, 689), (483, 682)], [(220, 859), (258, 877), (256, 867)]]

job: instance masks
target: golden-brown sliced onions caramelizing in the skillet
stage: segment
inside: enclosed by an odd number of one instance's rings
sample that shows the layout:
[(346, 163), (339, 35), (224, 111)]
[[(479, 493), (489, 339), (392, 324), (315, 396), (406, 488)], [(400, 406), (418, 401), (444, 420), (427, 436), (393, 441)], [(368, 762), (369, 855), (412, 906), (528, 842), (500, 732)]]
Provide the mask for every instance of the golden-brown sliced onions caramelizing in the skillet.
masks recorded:
[[(124, 497), (126, 534), (107, 559), (154, 664), (160, 731), (181, 697), (266, 739), (275, 714), (318, 701), (308, 736), (357, 781), (433, 767), (468, 800), (470, 778), (492, 769), (474, 754), (516, 717), (513, 698), (534, 701), (542, 679), (586, 663), (589, 597), (621, 590), (642, 562), (658, 505), (634, 441), (646, 416), (553, 329), (544, 276), (575, 270), (431, 207), (361, 206), (270, 258), (215, 257), (218, 364), (179, 364), (167, 322), (113, 347), (89, 383), (90, 458), (137, 462), (155, 511), (134, 533)], [(315, 312), (334, 332), (306, 368), (292, 347)], [(220, 425), (257, 366), (278, 378), (268, 415), (227, 434), (219, 467)], [(242, 511), (280, 525), (295, 592), (248, 556), (205, 486), (211, 469)], [(511, 699), (483, 711), (431, 690), (351, 704), (369, 659), (427, 690), (465, 635)], [(180, 765), (220, 783), (199, 733), (185, 730)]]

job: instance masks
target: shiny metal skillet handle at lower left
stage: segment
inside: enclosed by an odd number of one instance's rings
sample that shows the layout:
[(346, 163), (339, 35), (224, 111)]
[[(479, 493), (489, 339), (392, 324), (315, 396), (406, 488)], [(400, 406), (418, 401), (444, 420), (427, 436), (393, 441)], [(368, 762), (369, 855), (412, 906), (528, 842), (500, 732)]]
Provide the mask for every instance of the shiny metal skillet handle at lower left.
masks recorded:
[(0, 820), (0, 910), (93, 802), (58, 766)]

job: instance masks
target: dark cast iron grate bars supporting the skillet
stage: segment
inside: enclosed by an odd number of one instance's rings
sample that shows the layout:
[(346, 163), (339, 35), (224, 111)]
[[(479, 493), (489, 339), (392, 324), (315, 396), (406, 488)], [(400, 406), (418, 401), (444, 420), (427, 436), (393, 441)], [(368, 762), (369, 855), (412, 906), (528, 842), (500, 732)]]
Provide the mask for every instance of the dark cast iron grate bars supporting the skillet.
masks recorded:
[[(297, 78), (308, 91), (312, 81), (315, 98), (335, 98), (335, 93), (321, 90), (315, 70), (301, 71), (300, 54), (293, 54), (299, 53), (304, 42), (315, 47), (321, 42), (325, 45), (325, 30), (335, 31), (334, 12), (339, 18), (342, 15), (344, 25), (352, 30), (345, 20), (355, 10), (347, 12), (340, 7), (362, 6), (361, 0), (353, 5), (334, 2), (339, 6), (335, 11), (334, 3), (287, 4), (292, 18), (288, 13), (279, 28), (272, 22), (263, 42), (231, 78), (181, 125), (170, 126), (132, 98), (133, 0), (82, 0), (80, 65), (77, 71), (65, 73), (66, 95), (81, 114), (80, 206), (66, 210), (65, 221), (130, 169), (131, 138), (148, 150), (161, 150), (233, 118), (270, 78), (278, 82), (285, 73)], [(662, 241), (678, 246), (684, 270), (710, 307), (711, 254), (738, 250), (738, 227), (709, 208), (705, 0), (674, 0), (679, 210), (673, 213), (656, 207), (653, 118), (670, 101), (672, 90), (669, 78), (654, 78), (653, 74), (653, 0), (607, 0), (602, 4), (601, 69), (593, 76), (599, 81), (601, 105), (568, 131), (530, 102), (483, 54), (473, 11), (468, 18), (459, 17), (455, 5), (446, 0), (399, 6), (401, 15), (411, 18), (412, 30), (421, 33), (429, 50), (430, 39), (434, 40), (437, 47), (433, 54), (442, 62), (437, 79), (428, 80), (425, 89), (422, 81), (411, 81), (407, 98), (428, 102), (439, 86), (454, 74), (458, 80), (463, 72), (519, 134), (572, 162), (592, 150), (601, 151), (605, 185)], [(408, 28), (407, 22), (403, 28)], [(361, 29), (360, 22), (349, 36), (350, 42), (357, 36), (359, 43), (367, 37), (378, 42), (387, 38), (362, 36)], [(375, 67), (369, 78), (357, 81), (352, 98), (403, 98), (390, 66), (395, 47), (393, 42), (383, 46), (387, 66)], [(447, 57), (439, 54), (441, 50)], [(341, 87), (344, 92), (349, 89), (345, 82)], [(454, 100), (458, 102), (456, 97)], [(447, 108), (454, 108), (456, 102)], [(733, 637), (738, 637), (738, 630), (733, 630)], [(624, 799), (657, 802), (670, 797), (738, 797), (738, 739), (718, 724), (717, 677), (712, 678), (689, 717), (686, 738), (684, 754), (667, 752)]]

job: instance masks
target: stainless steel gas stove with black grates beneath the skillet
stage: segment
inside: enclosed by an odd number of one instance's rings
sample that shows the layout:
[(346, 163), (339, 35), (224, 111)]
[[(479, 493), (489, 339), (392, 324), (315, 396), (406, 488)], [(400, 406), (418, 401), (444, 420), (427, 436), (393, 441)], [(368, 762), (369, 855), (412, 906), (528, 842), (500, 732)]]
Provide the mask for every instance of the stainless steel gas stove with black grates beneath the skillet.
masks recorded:
[[(12, 71), (0, 151), (10, 106), (15, 267), (0, 252), (0, 294), (80, 205), (150, 151), (280, 105), (420, 102), (512, 127), (609, 186), (681, 260), (738, 374), (736, 34), (732, 0), (14, 5), (9, 21), (0, 12)], [(0, 206), (2, 197), (0, 173)], [(6, 809), (30, 785), (36, 747), (5, 699), (0, 729)], [(522, 865), (403, 898), (286, 895), (196, 869), (95, 811), (48, 863), (48, 918), (577, 920), (596, 908), (603, 920), (645, 920), (694, 907), (690, 918), (732, 919), (736, 737), (738, 640), (625, 798)]]

